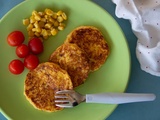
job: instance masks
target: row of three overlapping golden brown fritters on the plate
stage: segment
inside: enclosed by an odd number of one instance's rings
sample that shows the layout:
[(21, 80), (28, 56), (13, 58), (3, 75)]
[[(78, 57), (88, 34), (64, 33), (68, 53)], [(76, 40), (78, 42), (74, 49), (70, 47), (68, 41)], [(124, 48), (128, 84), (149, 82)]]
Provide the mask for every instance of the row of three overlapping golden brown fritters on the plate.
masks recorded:
[(49, 62), (31, 70), (25, 80), (25, 95), (35, 108), (58, 111), (54, 94), (83, 84), (92, 71), (98, 70), (109, 55), (102, 33), (93, 26), (74, 29), (50, 56)]

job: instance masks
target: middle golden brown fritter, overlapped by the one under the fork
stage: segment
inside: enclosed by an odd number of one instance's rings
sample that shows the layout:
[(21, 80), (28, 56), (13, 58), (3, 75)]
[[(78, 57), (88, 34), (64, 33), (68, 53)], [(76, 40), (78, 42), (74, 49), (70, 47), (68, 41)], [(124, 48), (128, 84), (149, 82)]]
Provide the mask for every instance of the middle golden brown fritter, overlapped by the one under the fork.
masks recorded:
[(62, 44), (50, 56), (49, 61), (57, 63), (68, 72), (73, 87), (84, 83), (90, 72), (86, 53), (76, 44)]

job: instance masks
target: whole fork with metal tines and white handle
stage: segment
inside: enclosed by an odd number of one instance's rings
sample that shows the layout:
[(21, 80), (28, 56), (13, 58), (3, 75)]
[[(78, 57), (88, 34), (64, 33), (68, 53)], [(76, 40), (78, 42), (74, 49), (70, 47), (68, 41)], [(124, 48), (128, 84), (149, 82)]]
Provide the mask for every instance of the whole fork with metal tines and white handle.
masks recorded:
[(98, 93), (82, 95), (74, 90), (57, 91), (55, 94), (55, 105), (58, 107), (75, 107), (81, 102), (124, 104), (133, 102), (144, 102), (155, 100), (155, 94), (142, 93)]

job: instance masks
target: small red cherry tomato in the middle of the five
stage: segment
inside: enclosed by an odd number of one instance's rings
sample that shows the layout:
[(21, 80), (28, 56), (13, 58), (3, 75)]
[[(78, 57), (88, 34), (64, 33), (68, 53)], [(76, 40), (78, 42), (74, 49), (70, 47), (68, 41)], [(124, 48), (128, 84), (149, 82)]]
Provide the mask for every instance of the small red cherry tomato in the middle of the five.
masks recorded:
[(20, 58), (24, 58), (29, 54), (29, 47), (25, 44), (21, 44), (16, 48), (16, 54)]

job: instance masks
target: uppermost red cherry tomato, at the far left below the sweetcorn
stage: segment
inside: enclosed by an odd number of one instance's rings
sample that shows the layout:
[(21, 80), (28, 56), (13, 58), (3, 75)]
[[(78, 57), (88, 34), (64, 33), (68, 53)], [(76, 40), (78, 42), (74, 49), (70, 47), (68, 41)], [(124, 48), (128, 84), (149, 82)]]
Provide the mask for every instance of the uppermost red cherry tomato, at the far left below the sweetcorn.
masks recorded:
[(7, 37), (7, 42), (11, 46), (18, 46), (24, 42), (24, 35), (21, 31), (13, 31)]

